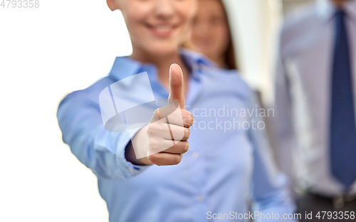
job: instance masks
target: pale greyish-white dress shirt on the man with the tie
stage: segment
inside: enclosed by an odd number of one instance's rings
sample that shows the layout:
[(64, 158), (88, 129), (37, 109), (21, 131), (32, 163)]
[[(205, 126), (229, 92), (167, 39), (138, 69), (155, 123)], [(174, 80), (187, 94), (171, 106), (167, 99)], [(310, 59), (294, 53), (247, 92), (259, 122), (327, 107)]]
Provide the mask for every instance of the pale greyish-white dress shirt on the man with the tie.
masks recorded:
[[(292, 181), (296, 178), (298, 187), (324, 196), (345, 190), (330, 168), (335, 10), (332, 1), (320, 0), (288, 16), (281, 30), (276, 69), (278, 163)], [(356, 1), (345, 2), (344, 10), (356, 99)], [(350, 193), (356, 193), (356, 183)]]

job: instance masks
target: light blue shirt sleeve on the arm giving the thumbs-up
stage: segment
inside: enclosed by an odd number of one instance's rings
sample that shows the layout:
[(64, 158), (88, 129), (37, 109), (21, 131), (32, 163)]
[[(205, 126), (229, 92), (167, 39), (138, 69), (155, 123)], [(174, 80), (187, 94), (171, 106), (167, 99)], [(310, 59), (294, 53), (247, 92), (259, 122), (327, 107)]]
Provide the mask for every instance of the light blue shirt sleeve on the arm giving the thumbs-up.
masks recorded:
[(63, 99), (57, 113), (63, 141), (78, 160), (98, 177), (118, 180), (135, 176), (149, 167), (126, 160), (129, 133), (106, 131), (98, 104), (78, 94), (75, 92)]

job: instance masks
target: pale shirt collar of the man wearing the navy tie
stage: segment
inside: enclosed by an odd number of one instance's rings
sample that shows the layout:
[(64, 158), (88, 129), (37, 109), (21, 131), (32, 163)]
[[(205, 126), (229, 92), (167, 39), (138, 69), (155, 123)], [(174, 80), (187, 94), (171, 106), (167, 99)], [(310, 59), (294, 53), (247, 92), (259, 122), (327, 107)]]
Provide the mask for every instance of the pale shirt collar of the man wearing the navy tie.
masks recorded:
[[(335, 4), (331, 0), (316, 1), (317, 14), (323, 21), (330, 21), (337, 10)], [(347, 17), (356, 22), (356, 0), (345, 1), (344, 8)]]

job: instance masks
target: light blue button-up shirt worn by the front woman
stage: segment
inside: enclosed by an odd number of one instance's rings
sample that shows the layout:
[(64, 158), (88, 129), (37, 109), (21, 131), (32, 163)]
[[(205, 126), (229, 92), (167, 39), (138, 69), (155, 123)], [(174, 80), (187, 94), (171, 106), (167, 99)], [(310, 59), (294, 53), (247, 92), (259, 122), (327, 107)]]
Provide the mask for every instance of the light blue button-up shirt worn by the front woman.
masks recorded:
[(100, 116), (100, 92), (143, 71), (155, 99), (167, 98), (152, 64), (117, 58), (109, 76), (69, 94), (58, 108), (63, 141), (98, 176), (110, 221), (210, 221), (219, 213), (220, 218), (241, 219), (248, 213), (248, 196), (253, 211), (278, 213), (280, 219), (293, 213), (286, 178), (276, 171), (266, 136), (258, 129), (263, 124), (251, 89), (236, 71), (219, 69), (200, 54), (181, 52), (191, 71), (186, 105), (194, 125), (189, 151), (177, 166), (130, 163), (125, 159), (129, 133), (106, 131)]

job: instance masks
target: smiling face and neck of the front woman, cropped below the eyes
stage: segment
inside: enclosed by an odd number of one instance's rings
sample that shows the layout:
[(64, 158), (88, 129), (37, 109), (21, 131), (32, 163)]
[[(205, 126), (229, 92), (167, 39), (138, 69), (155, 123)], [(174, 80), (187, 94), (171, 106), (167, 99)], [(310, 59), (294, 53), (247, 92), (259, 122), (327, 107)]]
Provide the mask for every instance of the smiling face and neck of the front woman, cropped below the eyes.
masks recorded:
[(108, 5), (122, 11), (134, 48), (132, 58), (142, 61), (177, 54), (197, 10), (196, 0), (108, 0)]

